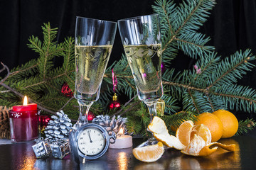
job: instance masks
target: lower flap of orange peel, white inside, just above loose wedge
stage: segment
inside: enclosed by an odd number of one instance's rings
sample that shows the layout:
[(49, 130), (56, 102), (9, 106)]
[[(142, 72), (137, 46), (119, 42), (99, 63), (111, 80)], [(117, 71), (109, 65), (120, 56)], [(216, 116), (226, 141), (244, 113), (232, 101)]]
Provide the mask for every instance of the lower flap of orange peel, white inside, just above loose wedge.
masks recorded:
[(168, 132), (163, 134), (154, 133), (154, 137), (156, 140), (163, 142), (167, 147), (174, 147), (178, 150), (185, 149), (185, 146), (178, 140), (178, 138), (170, 135)]

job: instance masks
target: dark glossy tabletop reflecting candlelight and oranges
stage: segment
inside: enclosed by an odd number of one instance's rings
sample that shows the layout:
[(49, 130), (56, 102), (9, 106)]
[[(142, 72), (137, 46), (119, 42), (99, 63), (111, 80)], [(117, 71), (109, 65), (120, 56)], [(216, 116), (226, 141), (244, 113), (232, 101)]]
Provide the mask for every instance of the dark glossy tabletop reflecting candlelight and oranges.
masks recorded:
[[(133, 139), (136, 147), (142, 139)], [(235, 144), (235, 152), (218, 149), (208, 157), (191, 157), (176, 149), (166, 149), (156, 162), (144, 163), (128, 149), (108, 149), (100, 159), (76, 164), (70, 155), (64, 159), (36, 159), (32, 145), (35, 142), (0, 145), (0, 169), (256, 169), (256, 137), (243, 135), (219, 140), (223, 144)]]

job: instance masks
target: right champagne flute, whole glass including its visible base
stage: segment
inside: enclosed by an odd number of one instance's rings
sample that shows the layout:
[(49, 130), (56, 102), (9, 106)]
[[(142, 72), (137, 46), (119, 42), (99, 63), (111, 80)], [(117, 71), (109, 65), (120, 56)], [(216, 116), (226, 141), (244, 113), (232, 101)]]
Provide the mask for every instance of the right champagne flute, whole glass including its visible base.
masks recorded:
[[(139, 100), (149, 108), (152, 120), (156, 103), (164, 94), (161, 81), (161, 33), (157, 14), (118, 21), (124, 52), (132, 69)], [(150, 121), (151, 121), (150, 120)], [(140, 145), (154, 145), (151, 137)]]

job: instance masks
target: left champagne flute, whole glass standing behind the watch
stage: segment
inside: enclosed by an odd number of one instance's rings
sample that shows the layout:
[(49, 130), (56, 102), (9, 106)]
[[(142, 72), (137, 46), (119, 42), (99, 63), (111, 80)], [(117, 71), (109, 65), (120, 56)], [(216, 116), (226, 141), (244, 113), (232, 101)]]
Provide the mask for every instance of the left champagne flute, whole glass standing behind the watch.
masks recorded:
[(74, 129), (88, 123), (87, 114), (100, 96), (100, 86), (110, 59), (117, 23), (92, 18), (76, 18), (75, 98), (80, 115)]

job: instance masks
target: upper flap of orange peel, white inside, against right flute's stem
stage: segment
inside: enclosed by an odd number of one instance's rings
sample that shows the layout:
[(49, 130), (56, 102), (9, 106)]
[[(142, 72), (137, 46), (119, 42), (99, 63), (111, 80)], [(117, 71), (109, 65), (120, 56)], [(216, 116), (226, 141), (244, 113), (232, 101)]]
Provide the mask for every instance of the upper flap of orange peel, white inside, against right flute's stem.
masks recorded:
[(148, 129), (154, 133), (168, 132), (166, 124), (164, 123), (164, 120), (162, 120), (158, 116), (154, 116), (153, 120), (148, 125)]

